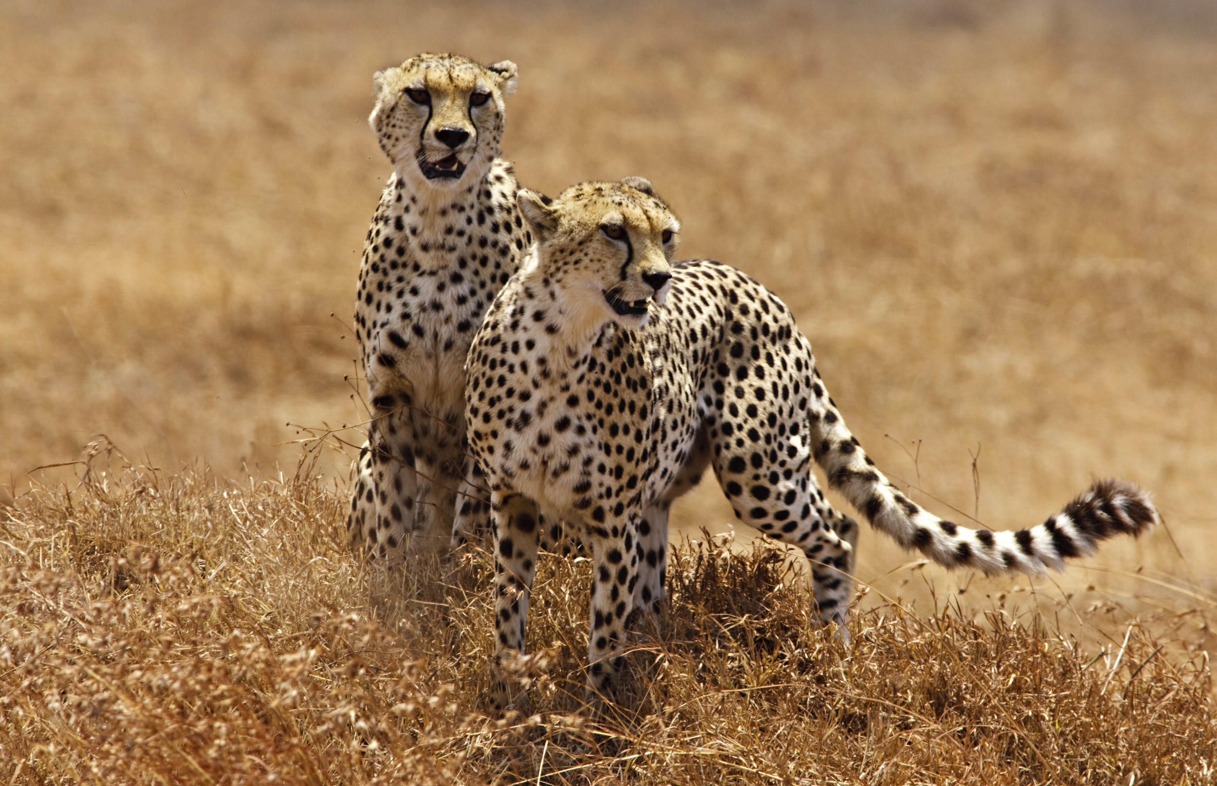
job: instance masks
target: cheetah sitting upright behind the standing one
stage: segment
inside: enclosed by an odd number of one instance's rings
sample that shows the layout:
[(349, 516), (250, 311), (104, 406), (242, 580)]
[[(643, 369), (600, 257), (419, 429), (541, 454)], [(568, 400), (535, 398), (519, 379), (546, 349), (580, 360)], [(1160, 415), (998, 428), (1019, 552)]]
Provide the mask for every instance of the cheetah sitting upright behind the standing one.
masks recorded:
[(357, 550), (388, 561), (438, 555), (449, 543), (465, 478), (465, 355), (533, 245), (511, 164), (499, 157), (516, 78), (511, 61), (447, 54), (374, 77), (369, 124), (393, 174), (359, 269), (355, 336), (370, 416), (347, 530)]

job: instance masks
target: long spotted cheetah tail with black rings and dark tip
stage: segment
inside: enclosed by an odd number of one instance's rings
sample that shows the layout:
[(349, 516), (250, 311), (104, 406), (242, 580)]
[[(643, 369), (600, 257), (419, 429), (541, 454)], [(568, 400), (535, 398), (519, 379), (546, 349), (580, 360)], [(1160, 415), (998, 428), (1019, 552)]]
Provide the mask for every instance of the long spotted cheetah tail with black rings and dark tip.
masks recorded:
[(849, 433), (817, 380), (809, 405), (812, 449), (829, 485), (905, 549), (948, 568), (1043, 574), (1061, 571), (1064, 557), (1093, 554), (1115, 534), (1140, 535), (1159, 521), (1149, 494), (1125, 481), (1098, 481), (1038, 527), (1016, 532), (969, 529), (943, 521), (904, 496)]

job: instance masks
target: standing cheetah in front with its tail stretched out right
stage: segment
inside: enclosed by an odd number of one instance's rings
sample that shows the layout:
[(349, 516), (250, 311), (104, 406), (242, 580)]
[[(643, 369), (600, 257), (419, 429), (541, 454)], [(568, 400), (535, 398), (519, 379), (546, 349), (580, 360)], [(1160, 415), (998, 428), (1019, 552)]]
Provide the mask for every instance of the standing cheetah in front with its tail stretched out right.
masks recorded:
[(1031, 529), (943, 521), (863, 453), (775, 294), (717, 262), (669, 263), (679, 224), (650, 183), (518, 202), (538, 245), (473, 338), (465, 388), (490, 482), (499, 657), (523, 650), (539, 505), (591, 548), (589, 689), (610, 689), (632, 608), (663, 597), (668, 506), (706, 466), (738, 517), (803, 550), (841, 631), (853, 549), (825, 521), (812, 459), (873, 527), (947, 567), (1060, 569), (1157, 520), (1144, 492), (1105, 481)]

